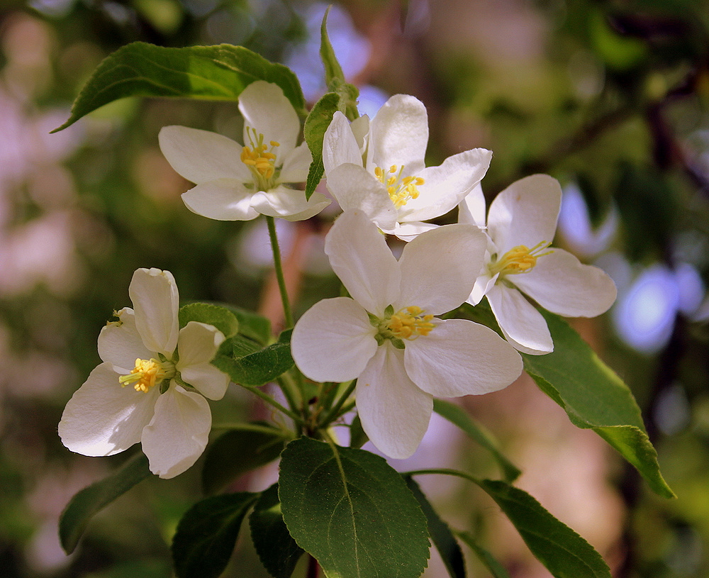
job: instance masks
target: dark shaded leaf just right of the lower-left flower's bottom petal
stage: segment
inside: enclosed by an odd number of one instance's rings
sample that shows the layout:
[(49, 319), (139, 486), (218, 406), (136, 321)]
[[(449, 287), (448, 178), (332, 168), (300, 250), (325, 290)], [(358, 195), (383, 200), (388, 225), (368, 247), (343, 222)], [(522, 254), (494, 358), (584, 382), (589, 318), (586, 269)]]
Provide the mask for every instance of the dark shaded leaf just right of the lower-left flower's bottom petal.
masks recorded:
[(284, 448), (286, 441), (280, 430), (272, 429), (267, 424), (245, 424), (245, 427), (261, 426), (260, 430), (233, 429), (217, 438), (205, 452), (202, 467), (202, 489), (205, 494), (218, 491), (252, 469), (275, 460)]

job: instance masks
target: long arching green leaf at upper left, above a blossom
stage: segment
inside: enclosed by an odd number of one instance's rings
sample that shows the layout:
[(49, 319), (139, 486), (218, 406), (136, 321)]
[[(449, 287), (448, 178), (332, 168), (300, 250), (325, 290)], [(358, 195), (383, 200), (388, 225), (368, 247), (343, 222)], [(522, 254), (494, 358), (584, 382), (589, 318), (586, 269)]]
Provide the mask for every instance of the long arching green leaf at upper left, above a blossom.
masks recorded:
[(278, 84), (298, 113), (305, 99), (296, 75), (242, 46), (162, 48), (135, 42), (106, 57), (72, 105), (67, 128), (82, 116), (125, 96), (235, 101), (255, 80)]

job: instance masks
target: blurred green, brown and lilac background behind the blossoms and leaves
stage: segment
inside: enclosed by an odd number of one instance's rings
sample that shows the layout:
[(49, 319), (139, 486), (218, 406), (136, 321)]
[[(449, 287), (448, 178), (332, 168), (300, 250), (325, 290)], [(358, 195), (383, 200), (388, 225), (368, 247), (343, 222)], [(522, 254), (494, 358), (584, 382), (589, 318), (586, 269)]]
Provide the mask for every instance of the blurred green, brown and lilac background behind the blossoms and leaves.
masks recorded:
[[(428, 164), (493, 150), (489, 199), (534, 172), (557, 177), (556, 243), (603, 267), (618, 302), (574, 322), (630, 385), (679, 499), (654, 496), (603, 441), (571, 426), (528, 380), (468, 398), (525, 471), (530, 491), (601, 552), (617, 578), (709, 575), (709, 3), (703, 0), (352, 0), (329, 32), (360, 110), (392, 94), (428, 107)], [(189, 184), (157, 147), (183, 124), (240, 140), (235, 104), (125, 99), (50, 135), (102, 58), (126, 43), (245, 45), (284, 62), (311, 104), (323, 93), (319, 26), (306, 0), (0, 0), (0, 569), (4, 577), (169, 577), (169, 540), (199, 497), (195, 472), (148, 479), (92, 521), (67, 557), (57, 518), (125, 460), (57, 436), (63, 406), (99, 362), (96, 336), (129, 304), (138, 267), (171, 270), (181, 297), (258, 309), (279, 323), (264, 223), (187, 211)], [(337, 294), (321, 225), (280, 223), (302, 312)], [(444, 219), (454, 221), (452, 214)], [(232, 387), (214, 406), (257, 415)], [(220, 409), (223, 408), (223, 409)], [(396, 467), (489, 457), (436, 419)], [(264, 489), (274, 468), (240, 482)], [(497, 507), (469, 486), (423, 479), (454, 528), (472, 530), (514, 578), (548, 577)], [(466, 552), (469, 575), (486, 570)], [(242, 532), (227, 574), (265, 577)], [(445, 576), (432, 557), (429, 578)]]

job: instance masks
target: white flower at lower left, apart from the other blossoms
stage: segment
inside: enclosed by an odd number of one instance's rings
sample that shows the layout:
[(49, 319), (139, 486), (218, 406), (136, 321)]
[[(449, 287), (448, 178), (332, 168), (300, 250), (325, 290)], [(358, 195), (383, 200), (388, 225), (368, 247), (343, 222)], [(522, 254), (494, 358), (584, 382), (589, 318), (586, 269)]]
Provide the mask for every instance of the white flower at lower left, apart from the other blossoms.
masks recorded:
[(121, 309), (101, 330), (103, 363), (69, 400), (59, 435), (72, 452), (91, 456), (142, 442), (150, 471), (171, 478), (206, 446), (212, 418), (203, 396), (221, 399), (228, 387), (210, 363), (224, 335), (196, 321), (179, 329), (169, 271), (138, 269), (128, 292), (135, 309)]

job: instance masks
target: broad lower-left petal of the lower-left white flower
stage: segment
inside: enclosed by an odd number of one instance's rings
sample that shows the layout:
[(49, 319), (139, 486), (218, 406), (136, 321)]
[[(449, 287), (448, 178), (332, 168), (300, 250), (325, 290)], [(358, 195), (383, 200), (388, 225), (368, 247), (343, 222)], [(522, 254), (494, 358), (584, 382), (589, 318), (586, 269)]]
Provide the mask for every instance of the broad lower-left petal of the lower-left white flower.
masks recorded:
[(82, 455), (113, 455), (140, 441), (159, 395), (121, 387), (110, 363), (101, 363), (74, 392), (59, 423), (62, 443)]

